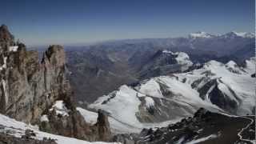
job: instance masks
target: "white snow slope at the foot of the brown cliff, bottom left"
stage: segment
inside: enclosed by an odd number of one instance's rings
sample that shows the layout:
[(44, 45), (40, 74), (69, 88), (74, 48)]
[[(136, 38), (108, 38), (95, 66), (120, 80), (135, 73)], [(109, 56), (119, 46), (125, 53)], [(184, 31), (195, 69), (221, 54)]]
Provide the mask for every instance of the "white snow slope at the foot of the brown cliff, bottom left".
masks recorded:
[[(43, 138), (51, 138), (56, 140), (58, 144), (105, 144), (108, 142), (86, 142), (82, 141), (76, 138), (68, 138), (63, 137), (60, 135), (55, 134), (49, 134), (46, 132), (42, 132), (38, 130), (37, 126), (30, 126), (27, 125), (24, 122), (18, 122), (14, 120), (13, 118), (6, 117), (5, 115), (0, 114), (0, 125), (2, 125), (4, 128), (0, 129), (1, 133), (6, 133), (13, 135), (14, 137), (21, 138), (22, 135), (25, 134), (25, 130), (30, 129), (34, 130), (34, 133), (36, 134), (35, 139), (42, 140)], [(113, 144), (118, 144), (117, 142), (112, 142)]]

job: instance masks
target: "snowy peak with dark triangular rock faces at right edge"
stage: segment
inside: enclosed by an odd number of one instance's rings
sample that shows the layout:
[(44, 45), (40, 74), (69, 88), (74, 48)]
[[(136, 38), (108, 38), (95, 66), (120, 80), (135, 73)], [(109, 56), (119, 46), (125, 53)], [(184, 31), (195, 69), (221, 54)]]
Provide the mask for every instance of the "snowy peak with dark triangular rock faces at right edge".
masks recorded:
[(253, 114), (255, 108), (254, 81), (255, 58), (246, 60), (245, 67), (235, 62), (226, 64), (210, 61), (199, 70), (174, 74), (199, 92), (206, 102), (231, 114)]

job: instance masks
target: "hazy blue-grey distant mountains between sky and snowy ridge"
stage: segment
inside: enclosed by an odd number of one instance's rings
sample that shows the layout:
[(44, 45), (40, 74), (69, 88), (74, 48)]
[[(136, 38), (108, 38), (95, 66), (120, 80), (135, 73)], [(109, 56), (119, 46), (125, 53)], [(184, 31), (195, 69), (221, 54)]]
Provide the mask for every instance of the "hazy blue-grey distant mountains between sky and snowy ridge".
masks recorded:
[(185, 52), (190, 61), (198, 65), (210, 60), (224, 63), (233, 60), (240, 66), (254, 56), (254, 46), (254, 34), (251, 33), (214, 35), (198, 32), (186, 38), (100, 42), (82, 48), (69, 47), (66, 53), (76, 98), (80, 103), (90, 103), (122, 84), (181, 71), (178, 70), (180, 65), (174, 65), (174, 54), (168, 57), (162, 54), (163, 50)]

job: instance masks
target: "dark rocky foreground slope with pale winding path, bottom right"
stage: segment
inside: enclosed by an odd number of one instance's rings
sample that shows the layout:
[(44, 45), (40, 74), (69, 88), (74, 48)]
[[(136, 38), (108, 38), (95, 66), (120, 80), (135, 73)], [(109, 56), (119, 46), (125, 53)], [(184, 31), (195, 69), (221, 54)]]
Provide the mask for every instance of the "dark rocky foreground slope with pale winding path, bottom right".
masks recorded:
[(119, 134), (114, 140), (130, 143), (255, 143), (255, 117), (236, 117), (199, 109), (194, 117), (140, 134)]

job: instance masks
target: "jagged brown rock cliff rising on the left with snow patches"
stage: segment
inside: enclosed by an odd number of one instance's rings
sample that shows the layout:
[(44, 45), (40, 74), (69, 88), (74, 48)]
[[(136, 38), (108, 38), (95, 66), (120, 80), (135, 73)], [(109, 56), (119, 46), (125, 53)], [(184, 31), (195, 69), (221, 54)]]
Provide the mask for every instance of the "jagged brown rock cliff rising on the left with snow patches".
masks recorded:
[(6, 26), (0, 27), (0, 46), (2, 114), (68, 137), (89, 141), (110, 137), (104, 114), (100, 113), (98, 123), (90, 126), (75, 110), (62, 46), (50, 46), (39, 62), (37, 51), (27, 51), (22, 43), (15, 46)]

